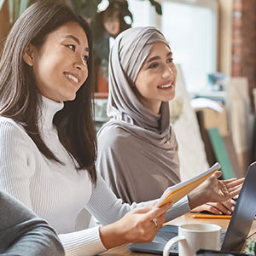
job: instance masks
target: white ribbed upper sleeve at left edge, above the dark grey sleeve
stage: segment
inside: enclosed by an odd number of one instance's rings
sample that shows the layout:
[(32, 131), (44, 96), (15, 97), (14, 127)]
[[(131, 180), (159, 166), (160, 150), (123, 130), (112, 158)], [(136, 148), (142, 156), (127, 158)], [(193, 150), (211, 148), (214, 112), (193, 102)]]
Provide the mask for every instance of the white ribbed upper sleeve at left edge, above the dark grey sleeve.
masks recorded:
[(26, 133), (17, 125), (0, 122), (0, 188), (32, 209), (29, 187), (33, 157), (24, 136)]

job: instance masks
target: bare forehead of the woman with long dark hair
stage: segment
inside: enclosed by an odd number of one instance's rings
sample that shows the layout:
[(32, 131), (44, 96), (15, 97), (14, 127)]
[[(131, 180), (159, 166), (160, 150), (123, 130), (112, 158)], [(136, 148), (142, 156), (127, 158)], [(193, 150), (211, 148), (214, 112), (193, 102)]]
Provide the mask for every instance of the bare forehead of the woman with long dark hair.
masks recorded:
[(77, 22), (67, 22), (59, 26), (55, 31), (50, 32), (47, 39), (57, 39), (61, 40), (62, 38), (66, 38), (67, 36), (72, 35), (75, 38), (79, 39), (79, 42), (84, 48), (88, 48), (88, 38), (86, 33), (84, 32), (84, 28), (79, 25)]

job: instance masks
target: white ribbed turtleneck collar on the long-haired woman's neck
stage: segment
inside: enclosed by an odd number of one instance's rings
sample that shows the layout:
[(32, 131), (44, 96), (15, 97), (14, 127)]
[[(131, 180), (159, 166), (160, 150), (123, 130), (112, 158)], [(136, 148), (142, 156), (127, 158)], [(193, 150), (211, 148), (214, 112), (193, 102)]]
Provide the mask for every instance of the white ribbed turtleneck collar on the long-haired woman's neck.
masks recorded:
[(53, 119), (55, 113), (64, 108), (64, 102), (55, 102), (42, 96), (42, 110), (39, 113), (38, 122), (43, 131), (49, 131), (54, 128)]

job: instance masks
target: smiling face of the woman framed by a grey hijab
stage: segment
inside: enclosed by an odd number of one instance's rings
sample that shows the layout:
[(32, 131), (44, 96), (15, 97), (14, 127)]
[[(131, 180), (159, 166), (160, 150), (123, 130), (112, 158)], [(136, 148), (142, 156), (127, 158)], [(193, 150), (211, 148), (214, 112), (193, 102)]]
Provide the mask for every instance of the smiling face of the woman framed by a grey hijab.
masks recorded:
[(159, 113), (161, 102), (169, 102), (175, 96), (176, 78), (171, 49), (164, 43), (154, 43), (133, 88), (144, 107)]

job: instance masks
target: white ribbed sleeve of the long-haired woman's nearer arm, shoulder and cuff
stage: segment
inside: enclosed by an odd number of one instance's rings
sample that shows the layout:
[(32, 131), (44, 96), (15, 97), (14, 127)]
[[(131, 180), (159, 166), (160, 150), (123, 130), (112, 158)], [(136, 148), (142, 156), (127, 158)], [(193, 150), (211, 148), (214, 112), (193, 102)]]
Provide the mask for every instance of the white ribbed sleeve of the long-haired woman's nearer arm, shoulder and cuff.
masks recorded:
[[(33, 210), (30, 180), (35, 172), (33, 143), (11, 120), (0, 121), (0, 188)], [(93, 255), (106, 251), (99, 229), (59, 235), (67, 256)]]

